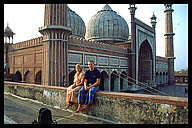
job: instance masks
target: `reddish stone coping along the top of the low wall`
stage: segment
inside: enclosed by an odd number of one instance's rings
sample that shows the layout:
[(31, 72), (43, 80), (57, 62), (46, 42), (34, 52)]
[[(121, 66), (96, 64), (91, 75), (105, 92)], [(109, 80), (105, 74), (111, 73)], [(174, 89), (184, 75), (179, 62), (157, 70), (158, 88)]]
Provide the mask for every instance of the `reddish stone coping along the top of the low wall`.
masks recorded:
[[(16, 82), (7, 82), (5, 85), (19, 85), (19, 86), (30, 86), (33, 88), (46, 88), (46, 89), (56, 89), (56, 90), (67, 90), (67, 87), (57, 87), (57, 86), (43, 86), (37, 84), (28, 84), (28, 83), (16, 83)], [(160, 95), (146, 95), (146, 94), (134, 94), (134, 93), (123, 93), (123, 92), (106, 92), (99, 91), (96, 93), (97, 96), (109, 96), (116, 98), (127, 98), (127, 99), (136, 99), (136, 100), (146, 100), (152, 101), (155, 103), (163, 103), (163, 104), (171, 104), (177, 106), (186, 106), (188, 107), (188, 99), (181, 97), (173, 97), (173, 96), (160, 96)]]

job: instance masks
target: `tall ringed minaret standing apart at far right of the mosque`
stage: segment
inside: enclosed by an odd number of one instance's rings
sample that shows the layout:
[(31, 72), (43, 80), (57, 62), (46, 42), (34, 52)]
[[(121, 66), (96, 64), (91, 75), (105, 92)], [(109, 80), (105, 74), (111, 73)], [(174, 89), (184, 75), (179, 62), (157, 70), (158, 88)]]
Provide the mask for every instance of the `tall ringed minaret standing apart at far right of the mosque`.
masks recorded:
[(174, 46), (173, 46), (173, 21), (172, 4), (165, 4), (165, 57), (168, 58), (168, 84), (174, 85)]

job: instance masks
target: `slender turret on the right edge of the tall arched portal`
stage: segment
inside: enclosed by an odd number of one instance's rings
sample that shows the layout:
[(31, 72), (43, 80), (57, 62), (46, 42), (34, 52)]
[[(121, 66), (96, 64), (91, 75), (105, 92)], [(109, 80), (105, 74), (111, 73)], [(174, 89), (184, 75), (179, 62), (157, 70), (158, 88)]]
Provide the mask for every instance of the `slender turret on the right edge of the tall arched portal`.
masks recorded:
[(156, 81), (156, 19), (157, 17), (153, 13), (151, 19), (151, 25), (154, 30), (154, 41), (153, 41), (153, 49), (154, 49), (154, 56), (153, 56), (153, 81)]

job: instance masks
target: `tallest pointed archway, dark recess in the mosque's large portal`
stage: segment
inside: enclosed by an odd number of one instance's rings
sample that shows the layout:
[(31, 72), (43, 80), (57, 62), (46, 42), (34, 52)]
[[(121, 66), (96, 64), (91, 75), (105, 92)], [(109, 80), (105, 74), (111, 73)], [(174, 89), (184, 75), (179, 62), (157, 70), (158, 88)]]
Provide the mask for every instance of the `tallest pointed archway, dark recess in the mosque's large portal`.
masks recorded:
[(139, 49), (138, 76), (139, 81), (147, 82), (153, 79), (153, 55), (152, 49), (147, 40), (145, 40)]

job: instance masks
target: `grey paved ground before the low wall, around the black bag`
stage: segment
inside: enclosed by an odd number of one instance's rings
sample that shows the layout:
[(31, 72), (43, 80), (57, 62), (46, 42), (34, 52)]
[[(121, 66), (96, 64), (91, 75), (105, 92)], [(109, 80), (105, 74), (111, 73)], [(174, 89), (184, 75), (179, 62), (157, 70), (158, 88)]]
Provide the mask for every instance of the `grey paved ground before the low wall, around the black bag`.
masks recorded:
[(71, 110), (62, 110), (47, 106), (41, 102), (28, 98), (21, 98), (4, 92), (4, 124), (32, 124), (38, 117), (39, 109), (46, 107), (52, 112), (52, 119), (57, 124), (112, 124), (113, 122), (85, 115), (73, 113)]

